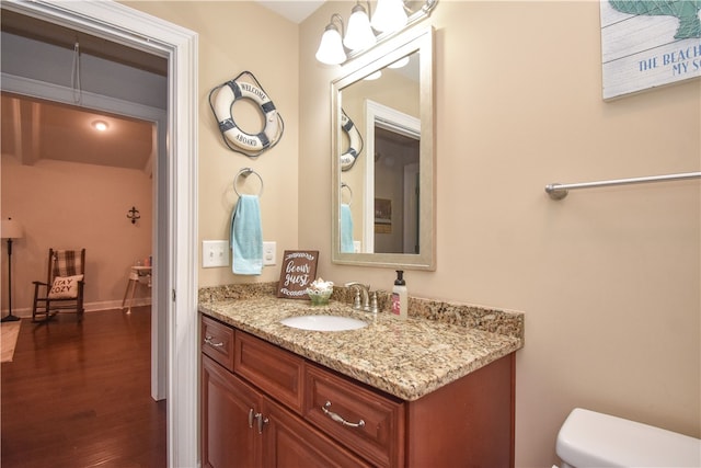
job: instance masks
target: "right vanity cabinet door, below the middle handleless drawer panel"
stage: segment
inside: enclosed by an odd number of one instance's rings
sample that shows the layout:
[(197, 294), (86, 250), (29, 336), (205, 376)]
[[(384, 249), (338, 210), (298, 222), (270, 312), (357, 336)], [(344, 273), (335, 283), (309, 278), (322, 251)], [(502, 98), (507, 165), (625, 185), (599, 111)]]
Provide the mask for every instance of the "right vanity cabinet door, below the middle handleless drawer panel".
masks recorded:
[(267, 398), (263, 401), (263, 467), (369, 467), (366, 461), (315, 431)]

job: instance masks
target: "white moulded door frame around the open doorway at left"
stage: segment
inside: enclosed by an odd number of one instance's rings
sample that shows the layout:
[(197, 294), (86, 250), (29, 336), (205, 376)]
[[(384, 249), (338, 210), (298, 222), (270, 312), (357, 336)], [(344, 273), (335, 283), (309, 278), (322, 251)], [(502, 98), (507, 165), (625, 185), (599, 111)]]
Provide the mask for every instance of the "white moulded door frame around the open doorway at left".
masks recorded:
[(3, 0), (2, 8), (168, 59), (166, 151), (154, 164), (151, 336), (165, 359), (152, 361), (166, 383), (168, 465), (198, 466), (197, 34), (113, 1)]

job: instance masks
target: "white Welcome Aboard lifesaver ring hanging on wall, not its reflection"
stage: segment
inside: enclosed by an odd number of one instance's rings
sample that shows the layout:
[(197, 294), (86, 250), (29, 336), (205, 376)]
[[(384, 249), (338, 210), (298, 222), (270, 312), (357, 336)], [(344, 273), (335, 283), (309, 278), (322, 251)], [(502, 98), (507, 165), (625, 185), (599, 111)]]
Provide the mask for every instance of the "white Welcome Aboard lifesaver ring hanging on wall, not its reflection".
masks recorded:
[[(244, 76), (249, 76), (254, 83), (242, 80)], [(245, 133), (233, 119), (231, 107), (240, 99), (249, 99), (258, 105), (265, 118), (265, 126), (260, 133)], [(277, 145), (285, 130), (283, 117), (275, 104), (250, 71), (243, 71), (233, 80), (212, 89), (209, 92), (209, 106), (227, 147), (252, 158)]]

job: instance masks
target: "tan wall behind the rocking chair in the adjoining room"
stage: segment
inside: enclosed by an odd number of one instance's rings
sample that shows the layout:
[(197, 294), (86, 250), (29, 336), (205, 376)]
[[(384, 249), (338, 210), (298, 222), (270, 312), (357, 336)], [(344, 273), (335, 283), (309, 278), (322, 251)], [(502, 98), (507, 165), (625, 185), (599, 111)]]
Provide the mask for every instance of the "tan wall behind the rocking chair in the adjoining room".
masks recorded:
[[(126, 217), (135, 206), (136, 225)], [(152, 180), (140, 170), (2, 155), (2, 217), (24, 227), (12, 246), (12, 310), (31, 316), (33, 281), (46, 281), (48, 249), (85, 248), (85, 308), (122, 305), (129, 266), (151, 254)], [(8, 308), (2, 246), (2, 310)], [(135, 297), (148, 298), (147, 287)]]

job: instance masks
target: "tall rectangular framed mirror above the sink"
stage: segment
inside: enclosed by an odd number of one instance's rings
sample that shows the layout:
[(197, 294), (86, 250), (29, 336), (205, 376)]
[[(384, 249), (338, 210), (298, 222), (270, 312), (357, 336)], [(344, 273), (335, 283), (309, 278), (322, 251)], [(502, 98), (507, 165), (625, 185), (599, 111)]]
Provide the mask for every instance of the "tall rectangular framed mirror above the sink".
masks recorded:
[(436, 267), (433, 35), (404, 31), (331, 83), (334, 263)]

